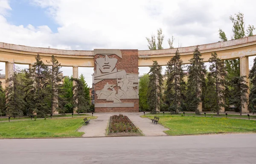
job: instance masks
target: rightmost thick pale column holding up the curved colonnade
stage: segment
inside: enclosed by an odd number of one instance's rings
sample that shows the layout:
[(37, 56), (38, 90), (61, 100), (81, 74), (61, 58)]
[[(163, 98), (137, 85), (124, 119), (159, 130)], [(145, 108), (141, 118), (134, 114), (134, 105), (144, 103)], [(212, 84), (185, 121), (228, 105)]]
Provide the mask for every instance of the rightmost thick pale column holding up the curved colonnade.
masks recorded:
[[(250, 83), (249, 83), (250, 79), (248, 78), (248, 76), (249, 76), (249, 59), (248, 59), (248, 56), (240, 57), (240, 75), (241, 76), (246, 76), (246, 78), (244, 78), (244, 80), (247, 82), (247, 85), (250, 87)], [(243, 113), (249, 112), (249, 110), (248, 110), (249, 92), (250, 92), (250, 90), (248, 89), (248, 93), (246, 94), (247, 103), (244, 103), (244, 107), (242, 107), (242, 112)]]

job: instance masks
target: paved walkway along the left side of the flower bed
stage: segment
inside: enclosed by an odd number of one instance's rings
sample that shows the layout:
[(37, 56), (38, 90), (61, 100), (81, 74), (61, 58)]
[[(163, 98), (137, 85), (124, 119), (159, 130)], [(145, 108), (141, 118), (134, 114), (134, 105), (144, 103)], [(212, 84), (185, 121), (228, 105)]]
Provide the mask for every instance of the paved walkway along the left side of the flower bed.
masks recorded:
[(87, 125), (83, 125), (80, 129), (78, 129), (79, 132), (84, 132), (82, 137), (105, 137), (106, 136), (106, 129), (108, 127), (108, 119), (111, 115), (105, 114), (105, 115), (97, 115), (97, 119), (91, 119), (90, 123)]

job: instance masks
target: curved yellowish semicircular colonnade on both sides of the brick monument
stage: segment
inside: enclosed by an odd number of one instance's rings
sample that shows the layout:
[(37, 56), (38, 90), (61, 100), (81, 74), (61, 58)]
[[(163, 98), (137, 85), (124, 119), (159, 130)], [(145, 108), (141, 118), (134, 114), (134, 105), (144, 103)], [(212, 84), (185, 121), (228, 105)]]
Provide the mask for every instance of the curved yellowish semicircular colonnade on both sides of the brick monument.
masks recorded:
[[(192, 58), (195, 48), (196, 46), (178, 48), (183, 64), (189, 64), (189, 59)], [(240, 74), (248, 77), (248, 57), (256, 55), (256, 35), (237, 40), (198, 45), (198, 48), (204, 62), (208, 62), (212, 52), (216, 52), (218, 57), (223, 60), (240, 58)], [(164, 66), (175, 55), (175, 52), (176, 48), (139, 50), (138, 66), (151, 66), (153, 60)], [(29, 64), (29, 67), (31, 67), (37, 54), (41, 55), (45, 63), (50, 61), (51, 56), (54, 55), (61, 66), (72, 66), (74, 78), (78, 78), (78, 67), (94, 67), (94, 51), (61, 50), (0, 43), (0, 62), (6, 63), (6, 79), (13, 73), (13, 63)], [(249, 79), (247, 79), (247, 82), (249, 85)], [(247, 105), (243, 112), (248, 112)]]

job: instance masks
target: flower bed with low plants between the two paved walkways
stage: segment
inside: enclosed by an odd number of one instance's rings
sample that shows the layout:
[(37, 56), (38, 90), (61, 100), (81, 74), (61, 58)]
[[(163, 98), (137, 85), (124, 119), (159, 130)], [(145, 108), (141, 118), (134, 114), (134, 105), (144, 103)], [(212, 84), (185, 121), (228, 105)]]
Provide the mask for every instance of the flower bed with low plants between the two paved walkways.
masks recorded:
[(141, 135), (138, 128), (125, 115), (113, 115), (110, 117), (108, 135)]

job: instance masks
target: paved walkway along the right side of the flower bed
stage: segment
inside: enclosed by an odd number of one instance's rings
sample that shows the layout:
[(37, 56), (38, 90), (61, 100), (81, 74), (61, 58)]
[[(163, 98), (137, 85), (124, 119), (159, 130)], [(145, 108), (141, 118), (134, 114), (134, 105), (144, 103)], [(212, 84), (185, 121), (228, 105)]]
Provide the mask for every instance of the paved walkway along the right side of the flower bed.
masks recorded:
[[(141, 114), (140, 114), (141, 115)], [(161, 124), (154, 124), (148, 118), (141, 118), (140, 115), (128, 115), (128, 118), (143, 132), (145, 136), (164, 136), (163, 131), (169, 130)]]

